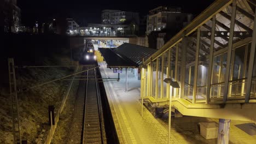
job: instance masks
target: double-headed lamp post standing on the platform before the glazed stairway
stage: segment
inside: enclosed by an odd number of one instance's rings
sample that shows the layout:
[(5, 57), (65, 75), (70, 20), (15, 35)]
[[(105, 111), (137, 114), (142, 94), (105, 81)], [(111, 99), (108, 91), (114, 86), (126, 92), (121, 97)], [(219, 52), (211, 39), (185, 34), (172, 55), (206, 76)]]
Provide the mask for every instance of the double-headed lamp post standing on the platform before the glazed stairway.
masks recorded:
[[(179, 88), (179, 83), (177, 81), (172, 81), (171, 78), (166, 78), (164, 80), (165, 83), (170, 84), (170, 89)], [(171, 136), (171, 113), (172, 113), (172, 92), (170, 92), (169, 98), (169, 118), (168, 118), (168, 143), (170, 143), (170, 136)]]

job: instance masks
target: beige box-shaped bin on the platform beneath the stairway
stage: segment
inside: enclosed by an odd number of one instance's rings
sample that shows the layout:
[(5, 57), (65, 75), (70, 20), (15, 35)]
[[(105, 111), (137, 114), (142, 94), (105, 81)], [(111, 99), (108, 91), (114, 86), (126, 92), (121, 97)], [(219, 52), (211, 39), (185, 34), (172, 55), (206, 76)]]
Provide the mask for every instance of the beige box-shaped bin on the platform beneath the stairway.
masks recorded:
[(216, 139), (218, 137), (219, 124), (217, 122), (201, 122), (200, 135), (205, 139)]

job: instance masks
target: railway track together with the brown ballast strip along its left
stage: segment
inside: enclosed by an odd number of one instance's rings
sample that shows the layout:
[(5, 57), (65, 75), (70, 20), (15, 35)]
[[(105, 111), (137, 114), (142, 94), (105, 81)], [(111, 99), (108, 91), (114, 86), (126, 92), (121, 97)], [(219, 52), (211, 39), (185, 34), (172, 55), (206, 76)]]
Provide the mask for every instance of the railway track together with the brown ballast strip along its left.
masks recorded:
[[(86, 67), (85, 69), (90, 69)], [(66, 143), (107, 143), (96, 69), (82, 74)], [(84, 91), (85, 89), (85, 91)]]

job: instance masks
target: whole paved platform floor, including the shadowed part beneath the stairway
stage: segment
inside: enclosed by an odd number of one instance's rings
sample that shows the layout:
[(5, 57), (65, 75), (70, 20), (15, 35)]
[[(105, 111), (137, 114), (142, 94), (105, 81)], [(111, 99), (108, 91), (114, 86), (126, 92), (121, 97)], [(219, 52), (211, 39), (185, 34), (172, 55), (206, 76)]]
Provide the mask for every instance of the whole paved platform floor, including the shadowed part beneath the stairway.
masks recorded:
[[(107, 69), (106, 62), (98, 62), (102, 77), (118, 77), (113, 69)], [(168, 120), (155, 118), (146, 107), (141, 117), (140, 81), (128, 73), (128, 92), (125, 92), (125, 69), (120, 81), (104, 80), (110, 109), (114, 118), (120, 143), (167, 143)], [(217, 139), (206, 140), (200, 135), (197, 123), (218, 119), (189, 117), (172, 119), (171, 143), (217, 143)], [(256, 136), (250, 136), (235, 124), (246, 122), (231, 121), (229, 143), (256, 143)], [(247, 122), (248, 123), (248, 122)]]

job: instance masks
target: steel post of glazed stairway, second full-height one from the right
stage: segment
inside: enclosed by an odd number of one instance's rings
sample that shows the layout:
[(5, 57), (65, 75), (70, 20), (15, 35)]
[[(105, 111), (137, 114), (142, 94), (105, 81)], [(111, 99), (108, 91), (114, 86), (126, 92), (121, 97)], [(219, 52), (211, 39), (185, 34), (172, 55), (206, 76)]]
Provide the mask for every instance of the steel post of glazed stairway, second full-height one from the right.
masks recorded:
[(223, 103), (226, 103), (226, 100), (228, 100), (230, 63), (231, 63), (232, 46), (233, 46), (233, 34), (234, 34), (235, 21), (236, 21), (236, 0), (234, 0), (232, 2), (232, 13), (231, 13), (230, 21), (231, 21), (231, 23), (230, 23), (230, 32), (229, 32), (230, 36), (229, 36), (229, 44), (228, 44), (228, 57), (226, 59), (226, 73), (225, 73)]

